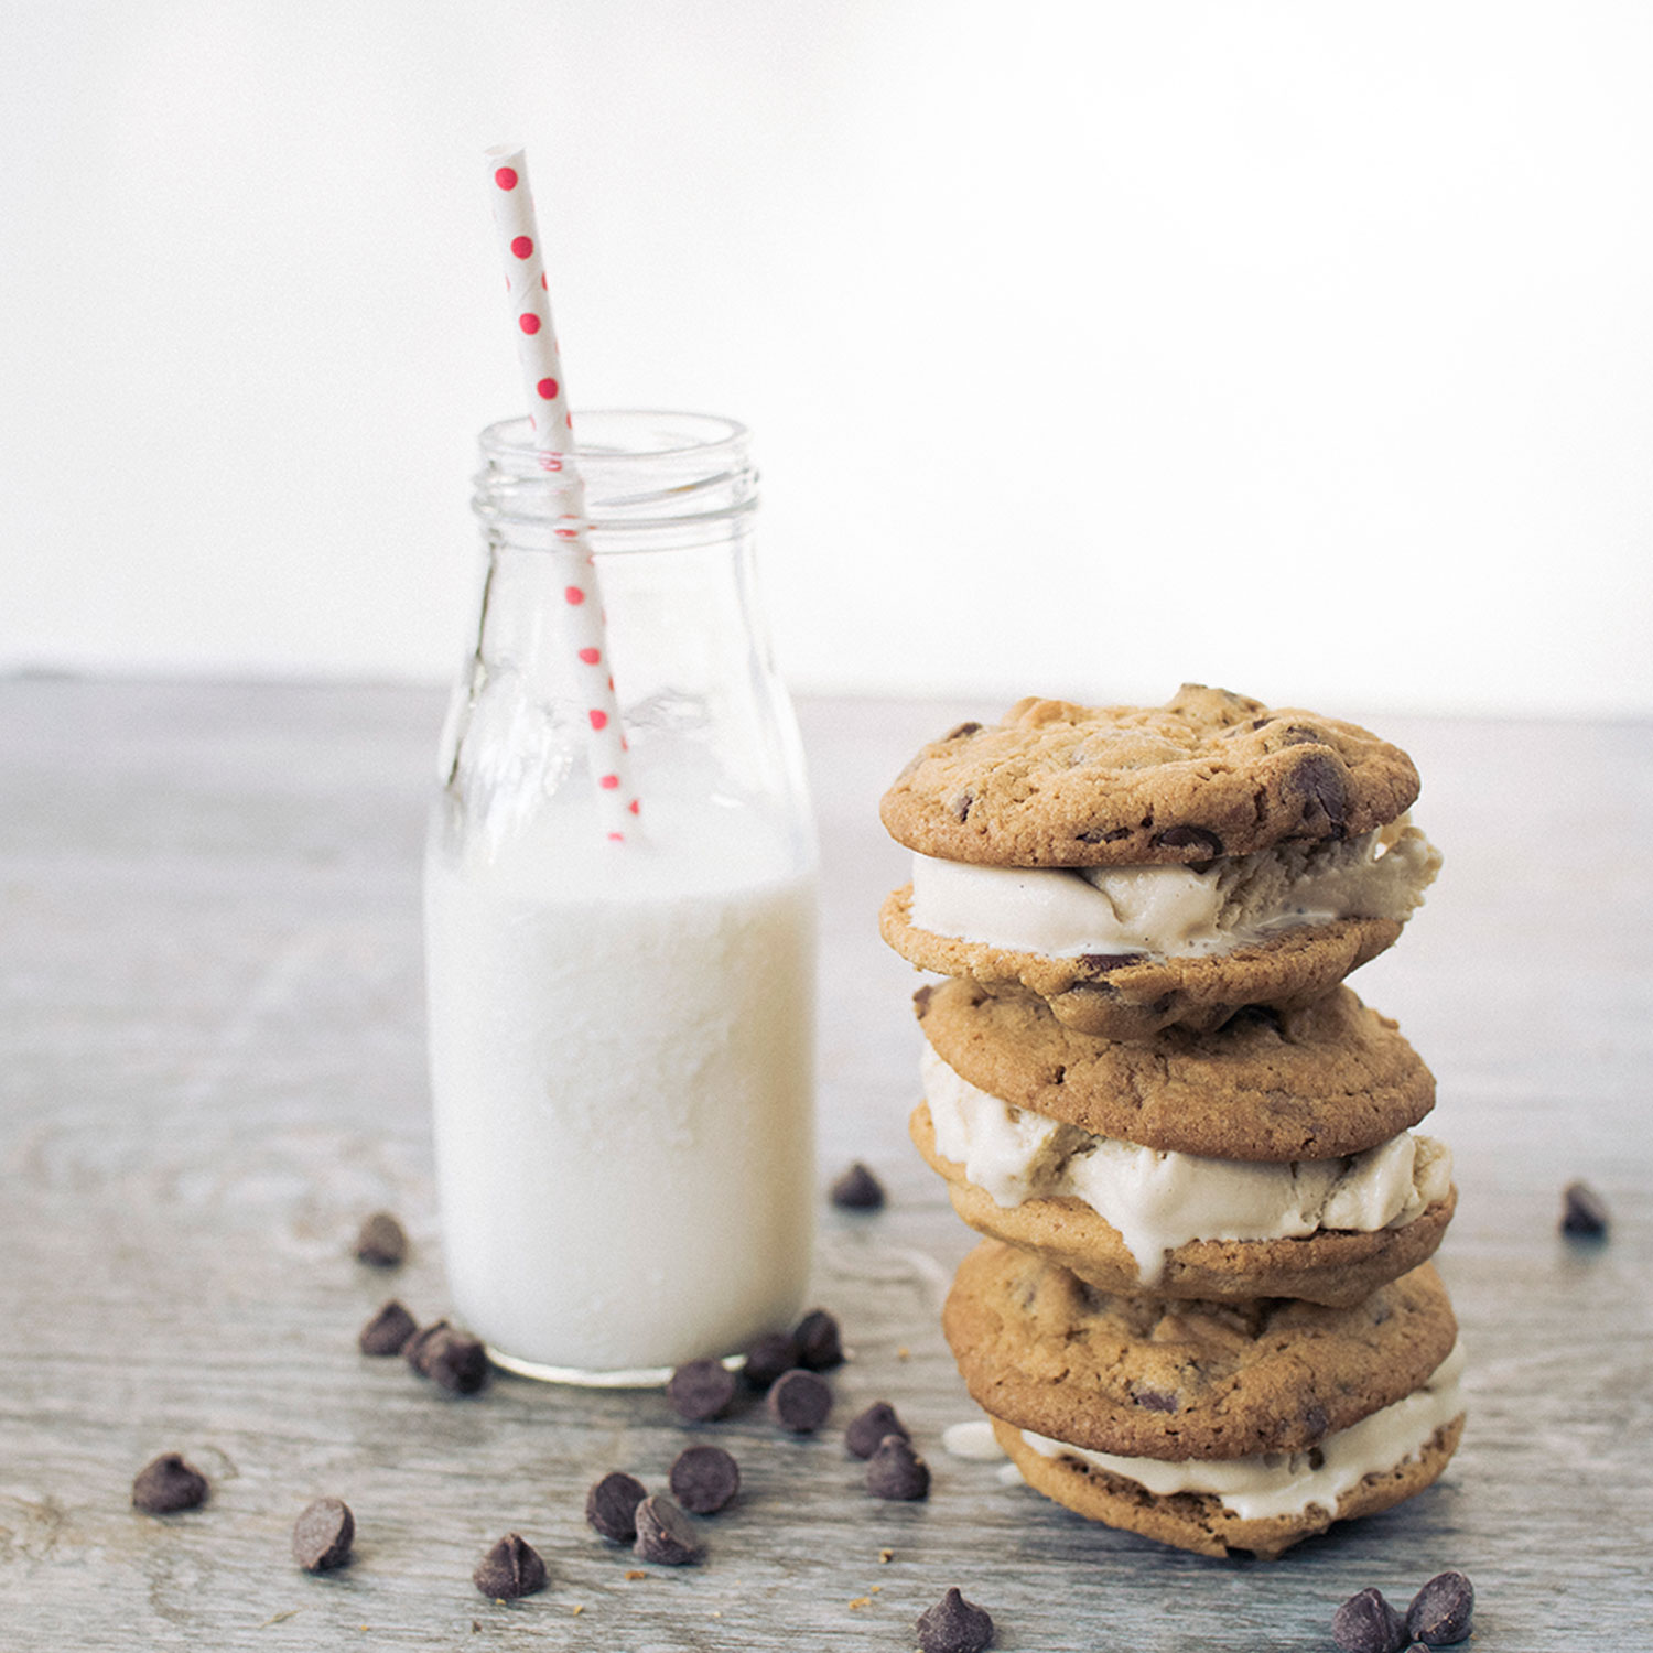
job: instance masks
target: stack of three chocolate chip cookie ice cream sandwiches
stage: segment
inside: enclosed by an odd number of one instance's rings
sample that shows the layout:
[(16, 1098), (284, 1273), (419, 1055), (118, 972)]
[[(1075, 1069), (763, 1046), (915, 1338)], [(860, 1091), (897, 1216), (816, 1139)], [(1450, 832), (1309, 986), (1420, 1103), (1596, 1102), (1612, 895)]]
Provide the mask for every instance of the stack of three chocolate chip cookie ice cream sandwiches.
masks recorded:
[(1079, 1514), (1279, 1555), (1458, 1445), (1435, 1083), (1342, 985), (1440, 866), (1417, 793), (1364, 729), (1187, 684), (1022, 701), (884, 795), (881, 931), (944, 977), (912, 1141), (987, 1236), (944, 1329)]

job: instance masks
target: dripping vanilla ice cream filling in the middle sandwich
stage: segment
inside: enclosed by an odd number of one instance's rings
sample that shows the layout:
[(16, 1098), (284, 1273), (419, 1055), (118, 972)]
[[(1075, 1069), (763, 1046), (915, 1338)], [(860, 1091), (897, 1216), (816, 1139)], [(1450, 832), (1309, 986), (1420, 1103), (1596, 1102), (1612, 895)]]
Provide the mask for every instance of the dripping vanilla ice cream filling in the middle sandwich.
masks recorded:
[(936, 1149), (1000, 1207), (1071, 1197), (1119, 1231), (1144, 1286), (1190, 1240), (1286, 1240), (1403, 1228), (1451, 1189), (1451, 1154), (1402, 1132), (1341, 1159), (1208, 1159), (1093, 1136), (970, 1084), (926, 1045)]

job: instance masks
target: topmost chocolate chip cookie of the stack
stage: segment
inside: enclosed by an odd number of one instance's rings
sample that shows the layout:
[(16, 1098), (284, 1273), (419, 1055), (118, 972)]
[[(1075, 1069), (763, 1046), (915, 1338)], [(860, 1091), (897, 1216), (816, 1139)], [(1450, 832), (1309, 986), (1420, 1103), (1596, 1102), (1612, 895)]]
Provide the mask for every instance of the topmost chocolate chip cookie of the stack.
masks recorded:
[(1146, 866), (1352, 838), (1418, 772), (1355, 724), (1185, 683), (1165, 706), (1023, 699), (932, 741), (884, 793), (891, 836), (984, 866)]

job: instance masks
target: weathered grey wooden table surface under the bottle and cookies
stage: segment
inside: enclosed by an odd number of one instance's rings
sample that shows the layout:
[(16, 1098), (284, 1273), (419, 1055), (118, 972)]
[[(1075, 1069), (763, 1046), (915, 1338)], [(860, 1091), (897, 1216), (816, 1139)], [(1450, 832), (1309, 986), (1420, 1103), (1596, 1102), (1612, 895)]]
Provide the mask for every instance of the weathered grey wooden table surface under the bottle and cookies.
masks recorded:
[[(941, 1445), (972, 1417), (937, 1327), (970, 1235), (906, 1142), (916, 979), (874, 932), (904, 876), (876, 800), (990, 711), (803, 707), (822, 1182), (863, 1157), (891, 1200), (822, 1200), (817, 1299), (855, 1357), (797, 1440), (760, 1408), (689, 1430), (646, 1392), (443, 1400), (355, 1352), (390, 1293), (445, 1308), (417, 899), (436, 694), (0, 683), (0, 1648), (911, 1648), (957, 1584), (1005, 1650), (1308, 1650), (1355, 1589), (1405, 1600), (1445, 1567), (1481, 1648), (1653, 1646), (1653, 727), (1384, 721), (1446, 871), (1357, 985), (1440, 1078), (1473, 1410), (1435, 1489), (1265, 1564), (1089, 1526)], [(1605, 1245), (1555, 1231), (1572, 1177), (1612, 1202)], [(413, 1235), (393, 1276), (350, 1256), (375, 1207)], [(861, 1491), (840, 1430), (873, 1398), (914, 1427), (927, 1503)], [(703, 1565), (636, 1569), (585, 1488), (660, 1486), (689, 1440), (746, 1491)], [(162, 1450), (210, 1476), (198, 1511), (131, 1508)], [(319, 1494), (359, 1537), (309, 1577), (288, 1541)], [(501, 1607), (469, 1575), (512, 1529), (552, 1582)]]

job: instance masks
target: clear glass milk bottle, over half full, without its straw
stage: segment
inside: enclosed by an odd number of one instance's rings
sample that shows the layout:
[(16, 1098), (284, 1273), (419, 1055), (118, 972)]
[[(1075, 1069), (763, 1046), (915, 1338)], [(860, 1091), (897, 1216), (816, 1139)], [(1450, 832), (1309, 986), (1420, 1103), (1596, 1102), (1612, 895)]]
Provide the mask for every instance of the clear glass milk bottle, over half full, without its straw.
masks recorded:
[(610, 841), (567, 665), (565, 496), (527, 420), (494, 425), (425, 868), (436, 1175), (453, 1314), (493, 1357), (645, 1384), (803, 1301), (817, 850), (746, 430), (579, 426), (638, 830)]

